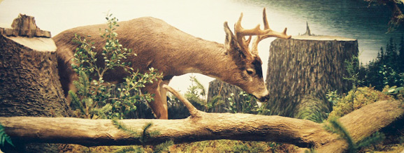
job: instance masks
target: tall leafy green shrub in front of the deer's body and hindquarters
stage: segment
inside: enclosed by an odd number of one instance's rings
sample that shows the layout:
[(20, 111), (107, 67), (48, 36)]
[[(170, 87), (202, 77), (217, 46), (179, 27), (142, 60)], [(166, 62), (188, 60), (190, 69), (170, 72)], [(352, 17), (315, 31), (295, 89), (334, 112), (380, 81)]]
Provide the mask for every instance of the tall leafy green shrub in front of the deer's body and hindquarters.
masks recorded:
[[(97, 52), (94, 50), (94, 42), (87, 41), (86, 38), (75, 35), (73, 41), (80, 44), (76, 48), (72, 64), (73, 70), (78, 73), (79, 79), (73, 82), (77, 92), (69, 91), (72, 98), (72, 108), (75, 116), (88, 119), (98, 118), (126, 118), (130, 112), (136, 110), (135, 103), (139, 101), (152, 101), (152, 95), (140, 93), (140, 88), (146, 83), (152, 83), (157, 78), (161, 78), (154, 68), (150, 68), (148, 73), (138, 73), (131, 68), (131, 63), (127, 58), (136, 56), (131, 50), (124, 48), (117, 39), (115, 32), (117, 18), (107, 15), (108, 28), (103, 30), (102, 38), (105, 45), (102, 48), (102, 59), (96, 58)], [(101, 29), (100, 29), (101, 31)], [(97, 61), (98, 60), (98, 61)], [(97, 62), (103, 61), (104, 66), (99, 66)], [(122, 87), (117, 87), (118, 94), (111, 94), (115, 85), (103, 80), (106, 73), (110, 73), (115, 68), (123, 68), (129, 75), (124, 78)], [(133, 95), (136, 93), (136, 95)]]

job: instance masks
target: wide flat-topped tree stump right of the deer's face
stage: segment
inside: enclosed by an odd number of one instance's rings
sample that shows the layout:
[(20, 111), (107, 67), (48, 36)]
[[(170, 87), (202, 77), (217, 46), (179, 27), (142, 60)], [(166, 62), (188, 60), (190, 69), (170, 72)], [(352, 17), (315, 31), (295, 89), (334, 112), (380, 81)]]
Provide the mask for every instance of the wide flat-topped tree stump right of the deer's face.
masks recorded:
[(353, 56), (358, 56), (358, 43), (350, 38), (293, 36), (273, 41), (266, 75), (271, 113), (297, 117), (307, 108), (329, 111), (327, 92), (352, 87), (343, 78), (348, 77), (345, 61)]

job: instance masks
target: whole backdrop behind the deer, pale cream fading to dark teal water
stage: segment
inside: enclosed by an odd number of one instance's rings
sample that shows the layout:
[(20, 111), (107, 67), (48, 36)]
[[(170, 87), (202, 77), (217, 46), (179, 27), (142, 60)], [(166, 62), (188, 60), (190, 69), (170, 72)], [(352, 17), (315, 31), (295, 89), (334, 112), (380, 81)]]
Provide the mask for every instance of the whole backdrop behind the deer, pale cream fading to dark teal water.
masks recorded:
[[(23, 13), (36, 17), (38, 27), (51, 31), (55, 36), (65, 29), (106, 22), (104, 17), (110, 12), (120, 20), (157, 17), (194, 36), (224, 43), (224, 21), (228, 21), (232, 27), (243, 12), (243, 27), (254, 27), (262, 24), (264, 7), (270, 27), (276, 31), (287, 27), (288, 34), (303, 34), (308, 22), (312, 34), (358, 39), (363, 63), (375, 58), (380, 47), (385, 46), (390, 37), (398, 42), (403, 33), (398, 30), (386, 34), (389, 10), (368, 7), (368, 3), (362, 0), (4, 0), (0, 3), (0, 23), (8, 26), (19, 13)], [(268, 38), (259, 44), (259, 55), (264, 61), (264, 76), (272, 40), (273, 38)], [(212, 80), (203, 75), (195, 75), (205, 87)], [(190, 85), (186, 80), (189, 80), (189, 75), (182, 75), (174, 78), (170, 85), (185, 92)]]

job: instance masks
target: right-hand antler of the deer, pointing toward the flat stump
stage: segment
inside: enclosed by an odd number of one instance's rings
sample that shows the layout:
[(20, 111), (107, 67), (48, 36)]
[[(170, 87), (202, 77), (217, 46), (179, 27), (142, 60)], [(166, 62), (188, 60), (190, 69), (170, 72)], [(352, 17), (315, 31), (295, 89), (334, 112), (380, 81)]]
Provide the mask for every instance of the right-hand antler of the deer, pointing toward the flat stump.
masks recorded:
[(285, 28), (282, 31), (282, 33), (273, 31), (272, 29), (269, 28), (268, 18), (266, 17), (266, 8), (264, 8), (264, 10), (263, 10), (262, 17), (264, 20), (264, 31), (266, 31), (266, 34), (257, 36), (257, 38), (255, 38), (254, 41), (252, 42), (251, 52), (252, 52), (252, 54), (256, 54), (256, 55), (258, 54), (259, 41), (262, 41), (265, 38), (269, 38), (269, 37), (277, 37), (277, 38), (285, 38), (285, 39), (291, 38), (291, 36), (288, 36), (286, 34), (287, 28)]

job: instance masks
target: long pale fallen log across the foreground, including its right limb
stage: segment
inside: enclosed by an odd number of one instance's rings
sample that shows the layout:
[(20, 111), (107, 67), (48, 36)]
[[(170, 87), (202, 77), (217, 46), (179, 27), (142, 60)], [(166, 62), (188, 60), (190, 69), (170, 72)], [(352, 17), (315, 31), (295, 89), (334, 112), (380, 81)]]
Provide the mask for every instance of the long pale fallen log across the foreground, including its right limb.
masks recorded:
[[(187, 106), (188, 107), (188, 106)], [(187, 119), (123, 119), (123, 124), (141, 132), (152, 123), (151, 131), (160, 131), (144, 144), (138, 138), (115, 128), (109, 119), (48, 117), (0, 117), (13, 141), (27, 143), (75, 143), (96, 145), (154, 145), (166, 140), (189, 143), (201, 140), (257, 140), (315, 147), (317, 152), (343, 152), (347, 143), (336, 134), (305, 119), (230, 113), (206, 113), (192, 109)], [(378, 101), (341, 117), (355, 142), (370, 136), (404, 114), (401, 101)], [(402, 119), (402, 118), (400, 118)]]

